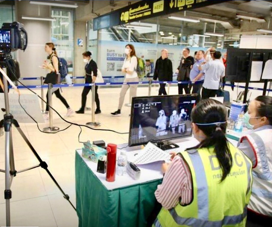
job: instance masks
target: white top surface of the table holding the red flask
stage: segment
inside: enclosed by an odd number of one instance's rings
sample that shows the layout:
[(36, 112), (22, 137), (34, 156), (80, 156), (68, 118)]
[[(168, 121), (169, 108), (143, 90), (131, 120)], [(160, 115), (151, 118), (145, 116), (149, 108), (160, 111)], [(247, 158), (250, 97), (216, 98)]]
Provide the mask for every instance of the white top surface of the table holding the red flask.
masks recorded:
[[(180, 148), (176, 148), (176, 149), (178, 149), (178, 151), (184, 151), (186, 148), (196, 146), (199, 143), (193, 137), (183, 138), (180, 140), (172, 140), (172, 141), (180, 146)], [(134, 159), (134, 154), (136, 154), (136, 153), (138, 154), (139, 152), (141, 152), (140, 146), (137, 146), (134, 148), (129, 147), (128, 149), (124, 148), (124, 150), (127, 151), (128, 161)], [(82, 157), (82, 149), (77, 149), (76, 151)], [(119, 153), (120, 153), (120, 150), (118, 149), (117, 155)], [(160, 161), (160, 162), (155, 162), (155, 163), (151, 163), (151, 164), (137, 165), (141, 170), (141, 177), (139, 180), (133, 180), (128, 174), (126, 174), (125, 176), (118, 176), (116, 174), (115, 181), (108, 182), (108, 181), (106, 181), (106, 173), (98, 173), (96, 171), (97, 170), (97, 163), (94, 163), (84, 157), (82, 157), (82, 159), (87, 164), (87, 166), (90, 168), (90, 170), (92, 170), (92, 172), (96, 175), (96, 177), (101, 181), (101, 183), (106, 187), (107, 190), (114, 190), (114, 189), (121, 188), (121, 187), (127, 187), (127, 186), (131, 186), (131, 185), (135, 185), (135, 184), (146, 183), (149, 181), (161, 179), (163, 177), (163, 174), (160, 171), (162, 161)], [(116, 166), (117, 166), (117, 164), (116, 164)]]

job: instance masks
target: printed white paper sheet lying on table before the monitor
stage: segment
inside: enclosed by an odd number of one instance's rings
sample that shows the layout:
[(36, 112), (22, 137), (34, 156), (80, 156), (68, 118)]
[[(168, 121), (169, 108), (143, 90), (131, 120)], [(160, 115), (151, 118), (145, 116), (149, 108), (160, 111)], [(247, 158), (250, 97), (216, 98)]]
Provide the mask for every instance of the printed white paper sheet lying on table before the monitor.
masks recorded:
[(163, 151), (156, 145), (148, 142), (143, 151), (141, 151), (140, 156), (136, 157), (132, 162), (136, 165), (141, 165), (164, 160), (170, 161), (170, 157), (169, 151)]

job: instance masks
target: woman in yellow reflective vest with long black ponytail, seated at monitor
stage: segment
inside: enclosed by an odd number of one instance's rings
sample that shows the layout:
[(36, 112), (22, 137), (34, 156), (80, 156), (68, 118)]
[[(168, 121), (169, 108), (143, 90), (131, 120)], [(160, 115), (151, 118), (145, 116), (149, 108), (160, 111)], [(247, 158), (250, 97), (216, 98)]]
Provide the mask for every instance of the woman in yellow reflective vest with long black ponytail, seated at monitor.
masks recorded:
[(225, 137), (227, 111), (204, 99), (191, 113), (199, 144), (173, 156), (155, 191), (160, 210), (153, 226), (244, 227), (251, 195), (248, 157)]

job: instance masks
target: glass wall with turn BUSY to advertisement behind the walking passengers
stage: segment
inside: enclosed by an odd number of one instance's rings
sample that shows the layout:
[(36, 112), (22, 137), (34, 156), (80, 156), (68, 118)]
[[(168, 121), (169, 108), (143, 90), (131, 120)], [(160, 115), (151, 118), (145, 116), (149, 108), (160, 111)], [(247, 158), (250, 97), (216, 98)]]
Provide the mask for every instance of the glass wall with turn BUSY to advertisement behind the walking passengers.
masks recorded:
[[(165, 15), (99, 30), (97, 57), (98, 62), (103, 63), (100, 64), (102, 74), (123, 75), (121, 67), (125, 59), (125, 45), (128, 43), (134, 45), (137, 57), (144, 60), (148, 76), (153, 76), (154, 65), (162, 49), (169, 51), (168, 58), (172, 61), (173, 72), (180, 64), (185, 47), (190, 49), (191, 56), (194, 56), (196, 51), (206, 51), (209, 47), (222, 50), (222, 53), (226, 52), (222, 49), (224, 36), (204, 36), (205, 32), (224, 34), (225, 28), (220, 23), (202, 20), (196, 23), (180, 21)], [(173, 80), (176, 80), (176, 76)]]

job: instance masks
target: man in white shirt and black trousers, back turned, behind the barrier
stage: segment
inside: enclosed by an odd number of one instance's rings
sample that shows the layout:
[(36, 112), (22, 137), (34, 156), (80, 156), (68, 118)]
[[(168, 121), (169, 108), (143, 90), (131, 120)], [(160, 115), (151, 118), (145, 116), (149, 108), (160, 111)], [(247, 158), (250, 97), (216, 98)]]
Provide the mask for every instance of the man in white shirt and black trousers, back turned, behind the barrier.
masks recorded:
[(213, 61), (202, 63), (199, 66), (199, 70), (205, 72), (205, 78), (202, 88), (202, 99), (208, 99), (209, 97), (215, 97), (216, 91), (219, 89), (220, 78), (225, 76), (225, 66), (220, 61), (221, 52), (215, 51), (212, 54)]

